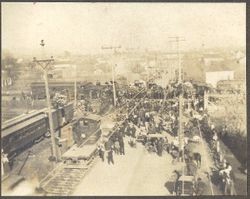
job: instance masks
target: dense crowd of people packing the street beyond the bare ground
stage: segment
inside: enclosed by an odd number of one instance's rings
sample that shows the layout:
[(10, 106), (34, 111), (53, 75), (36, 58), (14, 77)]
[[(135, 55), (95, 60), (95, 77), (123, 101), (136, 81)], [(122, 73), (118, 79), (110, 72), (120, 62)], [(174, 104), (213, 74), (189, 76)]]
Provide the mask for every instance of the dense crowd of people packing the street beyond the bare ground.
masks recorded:
[[(219, 157), (216, 166), (219, 170), (217, 175), (223, 193), (234, 195), (232, 166), (220, 153), (222, 150), (218, 141), (218, 133), (214, 131), (214, 126), (209, 121), (209, 115), (203, 109), (202, 93), (194, 92), (196, 90), (192, 85), (188, 85), (188, 87), (185, 88), (181, 85), (168, 87), (165, 93), (161, 94), (159, 93), (164, 92), (163, 89), (158, 89), (157, 92), (140, 89), (137, 94), (134, 92), (134, 97), (125, 90), (123, 95), (118, 96), (120, 103), (117, 104), (117, 107), (123, 110), (120, 113), (124, 117), (121, 117), (120, 126), (115, 129), (106, 146), (99, 146), (99, 155), (104, 161), (106, 151), (107, 162), (114, 164), (114, 153), (125, 155), (124, 137), (127, 136), (128, 144), (131, 147), (136, 147), (137, 143), (141, 142), (149, 152), (155, 152), (159, 156), (166, 151), (172, 156), (173, 164), (176, 164), (177, 160), (185, 162), (186, 175), (195, 176), (197, 184), (202, 184), (201, 178), (197, 175), (201, 168), (202, 155), (192, 151), (190, 145), (200, 142), (200, 139), (204, 137), (213, 149), (213, 153)], [(125, 95), (126, 93), (130, 94)], [(138, 93), (142, 95), (138, 95)], [(178, 96), (180, 94), (184, 99), (182, 106), (183, 141), (178, 139)], [(174, 139), (169, 140), (169, 137)], [(182, 145), (179, 142), (183, 142)], [(180, 146), (183, 147), (179, 148)], [(196, 190), (194, 193), (202, 195), (201, 187), (196, 188), (198, 191)]]

